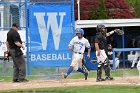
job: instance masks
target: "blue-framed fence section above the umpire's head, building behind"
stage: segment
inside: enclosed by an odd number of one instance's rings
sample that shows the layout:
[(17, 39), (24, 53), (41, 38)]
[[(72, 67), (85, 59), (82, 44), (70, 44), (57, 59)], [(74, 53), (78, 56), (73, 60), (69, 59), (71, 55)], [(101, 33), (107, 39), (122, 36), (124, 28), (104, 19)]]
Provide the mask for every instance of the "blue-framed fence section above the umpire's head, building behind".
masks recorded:
[(21, 28), (25, 28), (25, 2), (19, 2), (19, 0), (1, 1), (0, 17), (1, 31), (9, 30), (13, 23), (18, 23)]

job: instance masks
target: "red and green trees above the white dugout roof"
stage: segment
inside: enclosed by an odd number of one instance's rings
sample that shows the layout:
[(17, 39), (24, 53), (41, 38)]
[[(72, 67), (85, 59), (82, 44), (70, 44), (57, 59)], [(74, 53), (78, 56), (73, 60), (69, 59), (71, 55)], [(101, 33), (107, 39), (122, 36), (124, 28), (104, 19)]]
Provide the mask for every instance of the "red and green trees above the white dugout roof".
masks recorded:
[[(129, 1), (134, 3), (133, 0)], [(80, 14), (82, 20), (136, 18), (136, 11), (139, 11), (140, 5), (137, 4), (135, 7), (136, 8), (127, 0), (80, 0)], [(140, 16), (140, 11), (138, 12), (138, 16)], [(76, 0), (75, 18), (77, 19)]]

